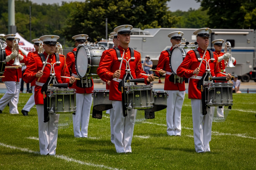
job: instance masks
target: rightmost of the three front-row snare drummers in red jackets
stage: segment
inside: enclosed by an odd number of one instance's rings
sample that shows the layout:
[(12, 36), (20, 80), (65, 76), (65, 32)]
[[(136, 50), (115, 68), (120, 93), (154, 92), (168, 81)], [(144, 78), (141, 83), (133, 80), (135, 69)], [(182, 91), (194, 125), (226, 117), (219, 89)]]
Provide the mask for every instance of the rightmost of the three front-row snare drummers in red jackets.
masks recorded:
[[(210, 72), (212, 77), (222, 76), (219, 73), (218, 57), (216, 53), (207, 50), (209, 45), (209, 37), (212, 32), (209, 28), (201, 28), (194, 31), (194, 35), (197, 36), (196, 42), (198, 43), (199, 58), (209, 60), (211, 56), (215, 59), (210, 61)], [(206, 51), (207, 50), (207, 51)], [(203, 57), (205, 53), (205, 56)], [(210, 152), (209, 142), (211, 141), (211, 126), (212, 120), (208, 115), (202, 114), (202, 102), (201, 102), (201, 89), (197, 88), (198, 81), (202, 78), (206, 72), (206, 62), (203, 60), (201, 67), (199, 68), (199, 60), (195, 51), (190, 50), (183, 62), (177, 69), (177, 75), (180, 77), (187, 77), (189, 79), (188, 85), (188, 98), (191, 99), (192, 107), (192, 119), (193, 119), (193, 132), (194, 132), (194, 143), (196, 152)], [(197, 76), (195, 76), (197, 74)], [(226, 80), (230, 80), (231, 75), (226, 76)], [(211, 108), (206, 108), (207, 112), (210, 112)]]

